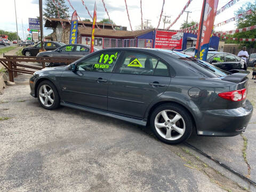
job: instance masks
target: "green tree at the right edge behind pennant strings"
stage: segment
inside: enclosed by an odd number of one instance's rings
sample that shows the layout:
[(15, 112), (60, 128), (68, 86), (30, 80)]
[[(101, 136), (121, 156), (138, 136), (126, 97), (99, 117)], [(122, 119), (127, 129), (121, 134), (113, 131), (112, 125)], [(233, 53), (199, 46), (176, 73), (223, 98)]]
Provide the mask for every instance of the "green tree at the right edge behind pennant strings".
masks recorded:
[[(245, 15), (245, 17), (239, 18), (236, 21), (236, 26), (238, 29), (256, 25), (256, 1), (245, 3), (237, 11), (235, 11), (235, 14), (238, 15), (238, 14), (244, 13), (249, 10), (252, 11), (252, 14)], [(255, 38), (256, 37), (256, 29), (237, 33), (237, 34), (232, 35), (232, 37), (236, 37), (238, 39), (239, 38)], [(239, 41), (226, 40), (225, 43), (237, 43), (237, 44), (240, 44), (241, 46), (246, 46), (248, 48), (250, 48), (250, 47), (256, 48), (256, 42), (239, 42)]]

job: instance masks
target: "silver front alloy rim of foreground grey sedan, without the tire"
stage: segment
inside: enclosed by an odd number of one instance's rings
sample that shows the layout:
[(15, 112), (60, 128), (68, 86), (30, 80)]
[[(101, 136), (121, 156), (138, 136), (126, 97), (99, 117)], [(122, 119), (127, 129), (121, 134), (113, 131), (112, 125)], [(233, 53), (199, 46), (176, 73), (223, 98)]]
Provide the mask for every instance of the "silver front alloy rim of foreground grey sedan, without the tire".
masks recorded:
[(49, 85), (42, 85), (39, 89), (39, 99), (45, 107), (51, 107), (54, 102), (54, 93)]

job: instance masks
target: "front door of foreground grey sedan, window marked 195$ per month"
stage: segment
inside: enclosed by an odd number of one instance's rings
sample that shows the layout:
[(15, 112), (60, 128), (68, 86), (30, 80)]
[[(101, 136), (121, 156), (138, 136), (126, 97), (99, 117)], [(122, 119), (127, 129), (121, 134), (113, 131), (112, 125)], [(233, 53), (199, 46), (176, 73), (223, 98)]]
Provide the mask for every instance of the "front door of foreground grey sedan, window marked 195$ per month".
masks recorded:
[(67, 70), (61, 77), (62, 99), (85, 107), (107, 110), (107, 93), (111, 71), (119, 51), (93, 54), (79, 61), (76, 71)]

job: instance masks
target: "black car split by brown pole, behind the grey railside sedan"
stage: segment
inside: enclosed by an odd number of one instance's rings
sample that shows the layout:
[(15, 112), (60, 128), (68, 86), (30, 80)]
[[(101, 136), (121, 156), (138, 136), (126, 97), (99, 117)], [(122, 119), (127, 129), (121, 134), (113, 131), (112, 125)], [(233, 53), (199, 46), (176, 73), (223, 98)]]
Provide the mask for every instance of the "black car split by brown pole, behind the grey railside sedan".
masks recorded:
[[(65, 45), (65, 43), (60, 42), (44, 42), (44, 49), (46, 51), (55, 50), (58, 47)], [(39, 53), (39, 49), (41, 49), (41, 43), (36, 44), (35, 46), (31, 47), (24, 47), (21, 51), (22, 55), (29, 56), (36, 56)]]

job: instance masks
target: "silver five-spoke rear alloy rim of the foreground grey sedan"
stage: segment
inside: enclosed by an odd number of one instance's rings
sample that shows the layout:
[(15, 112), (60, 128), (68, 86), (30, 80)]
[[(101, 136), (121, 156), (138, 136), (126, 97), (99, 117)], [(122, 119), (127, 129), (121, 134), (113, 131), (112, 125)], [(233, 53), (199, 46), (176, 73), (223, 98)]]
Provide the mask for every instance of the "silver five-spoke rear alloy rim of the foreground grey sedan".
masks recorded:
[(177, 140), (185, 133), (185, 121), (173, 110), (162, 110), (155, 117), (155, 129), (162, 138)]

